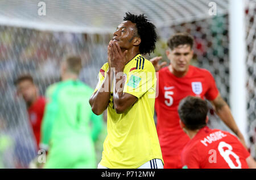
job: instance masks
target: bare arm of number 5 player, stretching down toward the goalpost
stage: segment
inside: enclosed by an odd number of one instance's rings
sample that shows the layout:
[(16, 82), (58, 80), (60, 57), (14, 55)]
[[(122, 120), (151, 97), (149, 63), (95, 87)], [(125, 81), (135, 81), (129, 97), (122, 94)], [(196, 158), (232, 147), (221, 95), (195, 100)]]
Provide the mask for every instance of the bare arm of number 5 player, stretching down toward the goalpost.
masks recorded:
[(240, 139), (241, 143), (246, 147), (245, 139), (240, 129), (237, 127), (228, 104), (222, 99), (220, 93), (210, 102), (213, 104), (214, 110), (220, 119), (238, 136), (238, 139)]

